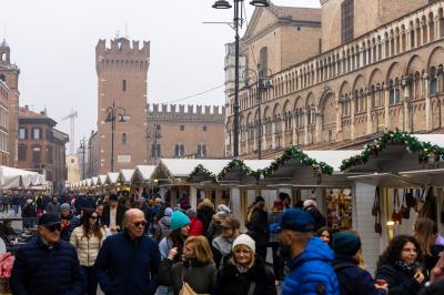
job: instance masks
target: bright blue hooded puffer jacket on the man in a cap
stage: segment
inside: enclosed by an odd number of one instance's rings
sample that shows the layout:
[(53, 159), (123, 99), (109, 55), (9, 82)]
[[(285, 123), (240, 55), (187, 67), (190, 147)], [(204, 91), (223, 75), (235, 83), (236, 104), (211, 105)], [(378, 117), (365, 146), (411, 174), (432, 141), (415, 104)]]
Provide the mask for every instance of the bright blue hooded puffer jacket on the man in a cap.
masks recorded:
[[(312, 237), (304, 252), (287, 263), (282, 295), (340, 295), (333, 267), (333, 252), (319, 237)], [(324, 292), (324, 293), (322, 293)]]

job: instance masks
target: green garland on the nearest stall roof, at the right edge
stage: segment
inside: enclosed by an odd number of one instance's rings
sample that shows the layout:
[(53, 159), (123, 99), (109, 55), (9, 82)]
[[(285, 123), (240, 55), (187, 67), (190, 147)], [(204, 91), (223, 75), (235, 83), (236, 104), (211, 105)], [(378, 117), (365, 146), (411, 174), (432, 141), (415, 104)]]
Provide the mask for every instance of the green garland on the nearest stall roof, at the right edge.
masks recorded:
[(381, 138), (375, 140), (374, 143), (366, 145), (361, 154), (342, 161), (341, 171), (363, 165), (369, 162), (371, 155), (377, 155), (389, 145), (396, 144), (405, 145), (410, 151), (417, 153), (420, 162), (428, 161), (431, 157), (435, 160), (444, 159), (443, 148), (431, 144), (430, 142), (421, 142), (415, 136), (396, 130), (385, 132)]

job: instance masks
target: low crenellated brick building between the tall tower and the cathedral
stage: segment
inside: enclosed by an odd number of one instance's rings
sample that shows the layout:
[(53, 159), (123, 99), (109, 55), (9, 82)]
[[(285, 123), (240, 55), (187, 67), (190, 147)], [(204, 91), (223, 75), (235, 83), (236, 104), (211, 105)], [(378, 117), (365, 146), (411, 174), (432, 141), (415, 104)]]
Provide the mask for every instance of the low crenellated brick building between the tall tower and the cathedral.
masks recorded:
[(148, 109), (149, 164), (161, 157), (223, 157), (224, 108), (152, 104)]

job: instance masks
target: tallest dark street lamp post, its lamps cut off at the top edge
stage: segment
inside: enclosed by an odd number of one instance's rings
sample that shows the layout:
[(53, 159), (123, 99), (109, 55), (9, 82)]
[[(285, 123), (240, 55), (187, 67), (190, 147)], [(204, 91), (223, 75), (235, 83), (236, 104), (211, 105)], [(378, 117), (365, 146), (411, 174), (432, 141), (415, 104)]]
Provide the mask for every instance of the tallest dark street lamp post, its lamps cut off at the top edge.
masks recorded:
[[(233, 29), (234, 29), (234, 118), (233, 118), (233, 156), (236, 157), (239, 155), (239, 27), (242, 24), (242, 19), (239, 16), (239, 11), (241, 10), (240, 4), (243, 0), (233, 0), (234, 2), (234, 19), (233, 19)], [(268, 0), (253, 0), (250, 4), (254, 7), (269, 7), (270, 3)], [(232, 6), (226, 0), (216, 0), (212, 8), (215, 9), (230, 9)]]

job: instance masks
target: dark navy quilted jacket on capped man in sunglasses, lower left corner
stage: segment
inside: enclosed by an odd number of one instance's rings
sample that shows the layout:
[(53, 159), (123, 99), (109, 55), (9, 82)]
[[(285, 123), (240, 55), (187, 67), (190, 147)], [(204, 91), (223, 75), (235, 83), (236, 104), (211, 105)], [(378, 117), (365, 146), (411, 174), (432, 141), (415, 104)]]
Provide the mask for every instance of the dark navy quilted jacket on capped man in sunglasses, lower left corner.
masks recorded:
[(83, 295), (84, 282), (75, 248), (60, 240), (52, 250), (40, 236), (16, 252), (14, 295)]

